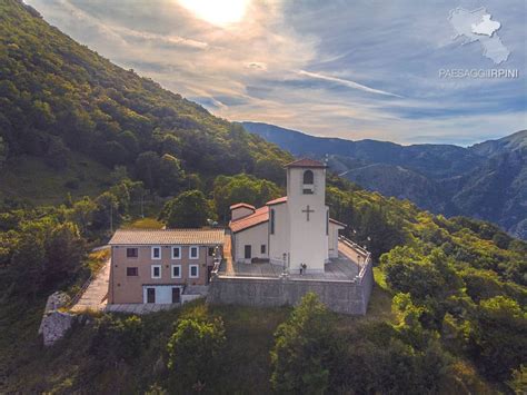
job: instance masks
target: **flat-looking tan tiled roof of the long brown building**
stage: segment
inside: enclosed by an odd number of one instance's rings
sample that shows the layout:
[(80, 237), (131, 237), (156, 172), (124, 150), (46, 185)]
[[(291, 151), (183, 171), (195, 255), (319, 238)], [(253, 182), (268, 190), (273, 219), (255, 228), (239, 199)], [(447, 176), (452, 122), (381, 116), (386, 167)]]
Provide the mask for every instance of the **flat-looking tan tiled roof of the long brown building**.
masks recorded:
[(225, 229), (118, 229), (110, 241), (116, 245), (219, 245)]

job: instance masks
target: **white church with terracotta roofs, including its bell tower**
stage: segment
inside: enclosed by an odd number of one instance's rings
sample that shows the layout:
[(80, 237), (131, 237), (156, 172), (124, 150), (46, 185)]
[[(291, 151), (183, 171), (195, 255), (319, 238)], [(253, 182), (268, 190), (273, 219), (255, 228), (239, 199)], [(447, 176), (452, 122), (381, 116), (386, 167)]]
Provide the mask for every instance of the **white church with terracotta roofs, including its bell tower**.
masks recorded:
[(339, 230), (326, 205), (326, 168), (300, 159), (286, 165), (287, 196), (256, 208), (230, 207), (231, 254), (236, 263), (269, 261), (289, 273), (321, 274), (338, 257)]

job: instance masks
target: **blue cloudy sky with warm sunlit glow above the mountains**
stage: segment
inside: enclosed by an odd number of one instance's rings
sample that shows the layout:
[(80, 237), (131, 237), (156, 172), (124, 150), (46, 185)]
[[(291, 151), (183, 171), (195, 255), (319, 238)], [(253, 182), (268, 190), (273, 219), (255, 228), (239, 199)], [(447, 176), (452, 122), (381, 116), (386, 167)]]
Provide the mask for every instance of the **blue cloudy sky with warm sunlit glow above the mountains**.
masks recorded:
[[(117, 65), (229, 120), (405, 145), (468, 146), (527, 129), (525, 0), (26, 2)], [(456, 37), (450, 13), (481, 7), (499, 29)], [(485, 56), (489, 38), (507, 60)], [(518, 77), (445, 77), (453, 69)]]

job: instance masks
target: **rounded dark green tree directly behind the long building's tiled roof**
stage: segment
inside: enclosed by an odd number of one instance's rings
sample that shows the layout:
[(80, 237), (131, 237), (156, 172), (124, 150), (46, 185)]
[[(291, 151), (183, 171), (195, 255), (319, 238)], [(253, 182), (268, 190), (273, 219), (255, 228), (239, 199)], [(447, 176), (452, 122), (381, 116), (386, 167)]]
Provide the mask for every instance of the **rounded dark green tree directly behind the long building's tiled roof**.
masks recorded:
[(211, 216), (209, 201), (200, 190), (185, 191), (168, 201), (163, 218), (169, 228), (199, 228)]

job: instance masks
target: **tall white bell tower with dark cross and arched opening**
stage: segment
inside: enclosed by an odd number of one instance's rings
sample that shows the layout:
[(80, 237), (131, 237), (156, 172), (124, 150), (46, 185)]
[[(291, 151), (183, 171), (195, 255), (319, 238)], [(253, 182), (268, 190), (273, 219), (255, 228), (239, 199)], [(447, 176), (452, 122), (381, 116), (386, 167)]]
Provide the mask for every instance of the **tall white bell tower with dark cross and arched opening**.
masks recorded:
[(300, 159), (287, 168), (290, 273), (321, 273), (328, 256), (326, 165)]

